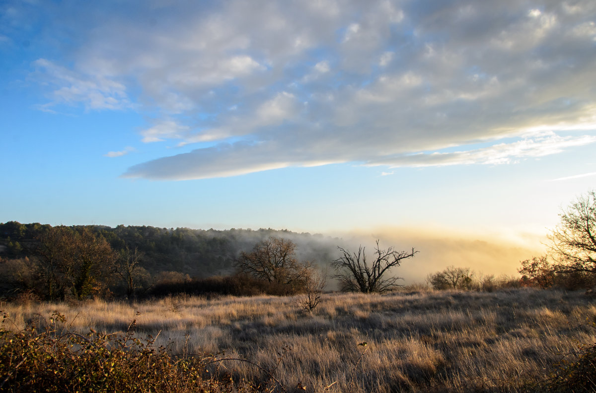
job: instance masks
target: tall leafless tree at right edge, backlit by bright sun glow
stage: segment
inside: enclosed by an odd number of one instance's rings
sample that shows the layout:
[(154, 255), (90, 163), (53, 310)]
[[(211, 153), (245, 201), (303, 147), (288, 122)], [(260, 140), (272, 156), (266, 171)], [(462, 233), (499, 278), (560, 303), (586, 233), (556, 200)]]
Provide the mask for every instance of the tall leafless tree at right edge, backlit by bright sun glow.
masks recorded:
[(561, 222), (548, 236), (555, 269), (564, 273), (596, 273), (596, 192), (578, 197), (559, 214)]

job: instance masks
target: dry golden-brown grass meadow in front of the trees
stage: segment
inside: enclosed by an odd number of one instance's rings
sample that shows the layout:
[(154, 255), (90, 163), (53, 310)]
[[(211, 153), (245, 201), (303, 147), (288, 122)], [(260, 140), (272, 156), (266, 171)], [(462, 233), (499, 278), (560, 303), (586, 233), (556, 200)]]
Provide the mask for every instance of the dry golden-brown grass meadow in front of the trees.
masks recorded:
[(56, 312), (66, 317), (61, 329), (80, 334), (125, 335), (135, 321), (135, 336), (151, 335), (172, 356), (247, 360), (205, 369), (265, 391), (544, 391), (561, 364), (596, 342), (596, 302), (583, 291), (325, 294), (311, 313), (298, 300), (4, 302), (0, 310), (2, 328), (14, 331), (41, 329)]

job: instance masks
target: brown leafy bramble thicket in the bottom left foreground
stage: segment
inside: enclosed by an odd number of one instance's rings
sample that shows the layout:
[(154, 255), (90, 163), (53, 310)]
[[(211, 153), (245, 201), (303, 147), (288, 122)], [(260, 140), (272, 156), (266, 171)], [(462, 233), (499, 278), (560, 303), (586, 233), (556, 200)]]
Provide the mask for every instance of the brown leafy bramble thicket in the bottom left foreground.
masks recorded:
[(46, 329), (0, 328), (0, 391), (253, 391), (247, 384), (232, 386), (229, 376), (204, 378), (205, 359), (212, 358), (175, 358), (164, 347), (154, 348), (151, 336), (134, 338), (134, 322), (124, 336), (94, 330), (79, 335), (60, 328), (64, 322), (54, 313)]

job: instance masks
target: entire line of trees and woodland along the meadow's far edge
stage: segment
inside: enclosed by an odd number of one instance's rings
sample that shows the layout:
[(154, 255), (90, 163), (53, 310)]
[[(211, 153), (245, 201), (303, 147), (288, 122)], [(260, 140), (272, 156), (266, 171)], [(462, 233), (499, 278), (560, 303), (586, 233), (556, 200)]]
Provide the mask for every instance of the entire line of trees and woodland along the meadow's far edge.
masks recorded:
[[(240, 231), (240, 232), (239, 232)], [(138, 295), (168, 295), (180, 292), (193, 294), (275, 295), (308, 294), (304, 308), (316, 306), (327, 282), (327, 270), (316, 267), (315, 259), (299, 258), (298, 245), (274, 230), (201, 231), (190, 229), (156, 229), (153, 227), (42, 226), (41, 224), (0, 224), (0, 240), (4, 237), (4, 253), (12, 259), (0, 260), (0, 290), (35, 292), (49, 300), (91, 295), (134, 298)], [(296, 235), (281, 231), (285, 235)], [(252, 235), (244, 236), (240, 235)], [(258, 235), (258, 236), (254, 236)], [(238, 236), (238, 238), (235, 238)], [(300, 234), (296, 239), (311, 239)], [(306, 236), (306, 237), (305, 237)], [(259, 241), (254, 242), (255, 239)], [(242, 239), (242, 240), (238, 240)], [(434, 289), (482, 289), (497, 286), (538, 286), (567, 289), (589, 288), (596, 284), (596, 194), (582, 195), (560, 214), (560, 223), (548, 236), (548, 255), (522, 261), (518, 269), (521, 279), (498, 280), (492, 275), (475, 275), (469, 267), (449, 266), (432, 273), (427, 282)], [(249, 249), (252, 242), (252, 249)], [(310, 255), (330, 262), (331, 277), (342, 291), (386, 292), (399, 286), (400, 277), (394, 268), (418, 253), (383, 249), (377, 241), (374, 252), (365, 248), (351, 252), (337, 247), (339, 257), (328, 242), (308, 242)], [(162, 266), (180, 266), (180, 255), (194, 255), (195, 266), (203, 275), (193, 278), (179, 270), (156, 272), (163, 250), (174, 256), (164, 258)], [(194, 254), (193, 254), (194, 252)], [(200, 260), (201, 252), (207, 257)], [(307, 253), (308, 254), (308, 253)], [(21, 258), (14, 258), (21, 256)], [(218, 259), (216, 267), (226, 275), (206, 273), (209, 259)], [(182, 263), (186, 261), (182, 258)], [(151, 271), (153, 269), (153, 271)], [(183, 270), (184, 271), (184, 270)], [(192, 271), (192, 270), (190, 270)], [(311, 296), (312, 295), (312, 296)], [(313, 305), (314, 304), (314, 305)]]

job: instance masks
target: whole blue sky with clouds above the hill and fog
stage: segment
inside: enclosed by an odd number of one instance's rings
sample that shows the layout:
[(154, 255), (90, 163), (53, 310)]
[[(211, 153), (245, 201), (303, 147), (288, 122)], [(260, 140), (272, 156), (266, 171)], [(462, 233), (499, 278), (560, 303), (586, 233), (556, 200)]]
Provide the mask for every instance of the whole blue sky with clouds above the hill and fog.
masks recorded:
[(529, 258), (596, 183), (596, 2), (4, 0), (0, 138), (0, 222)]

